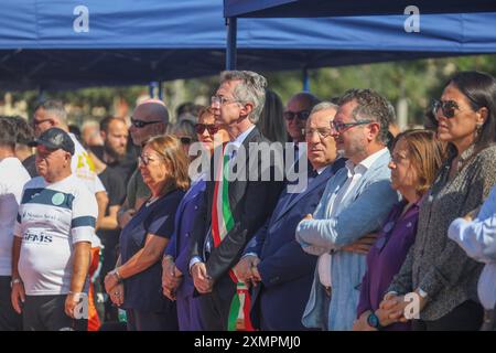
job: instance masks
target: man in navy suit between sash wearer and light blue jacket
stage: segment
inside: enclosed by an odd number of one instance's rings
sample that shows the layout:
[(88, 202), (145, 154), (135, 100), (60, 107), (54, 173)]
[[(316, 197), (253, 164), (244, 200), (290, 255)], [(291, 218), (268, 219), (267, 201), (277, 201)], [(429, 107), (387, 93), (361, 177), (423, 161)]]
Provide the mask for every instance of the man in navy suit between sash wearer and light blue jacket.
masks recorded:
[(308, 158), (313, 167), (306, 189), (281, 193), (272, 216), (251, 239), (236, 266), (238, 277), (255, 285), (251, 295), (252, 324), (268, 330), (306, 330), (301, 323), (312, 287), (316, 257), (304, 253), (294, 238), (300, 221), (315, 211), (327, 181), (344, 165), (336, 160), (331, 121), (337, 106), (316, 105), (304, 129)]

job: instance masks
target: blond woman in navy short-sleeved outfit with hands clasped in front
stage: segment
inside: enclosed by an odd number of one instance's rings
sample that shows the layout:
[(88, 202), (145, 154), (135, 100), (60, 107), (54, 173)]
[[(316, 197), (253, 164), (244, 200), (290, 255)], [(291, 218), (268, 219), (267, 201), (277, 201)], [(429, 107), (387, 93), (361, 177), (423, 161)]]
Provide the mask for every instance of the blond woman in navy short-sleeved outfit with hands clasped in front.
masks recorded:
[(138, 165), (151, 197), (123, 227), (120, 258), (105, 288), (126, 309), (129, 331), (177, 330), (175, 304), (161, 293), (161, 259), (190, 186), (188, 159), (177, 138), (158, 136), (145, 142)]

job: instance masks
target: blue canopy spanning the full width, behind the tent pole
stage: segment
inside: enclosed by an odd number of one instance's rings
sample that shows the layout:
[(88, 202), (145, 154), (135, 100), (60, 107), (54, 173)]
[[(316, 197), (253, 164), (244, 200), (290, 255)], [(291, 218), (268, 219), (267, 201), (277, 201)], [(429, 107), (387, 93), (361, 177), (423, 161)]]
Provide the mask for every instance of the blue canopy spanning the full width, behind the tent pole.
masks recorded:
[[(222, 0), (8, 0), (0, 12), (0, 88), (148, 84), (224, 68)], [(492, 53), (496, 13), (242, 19), (238, 67), (303, 69)]]

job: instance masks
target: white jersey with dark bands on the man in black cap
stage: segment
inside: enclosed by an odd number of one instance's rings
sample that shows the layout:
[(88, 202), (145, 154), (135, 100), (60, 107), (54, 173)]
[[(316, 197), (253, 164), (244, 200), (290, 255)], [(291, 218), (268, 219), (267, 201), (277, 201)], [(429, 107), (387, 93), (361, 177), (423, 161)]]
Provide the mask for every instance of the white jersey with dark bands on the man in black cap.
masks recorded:
[(14, 235), (22, 237), (19, 274), (28, 296), (71, 290), (74, 244), (93, 240), (97, 212), (95, 194), (74, 174), (24, 186)]

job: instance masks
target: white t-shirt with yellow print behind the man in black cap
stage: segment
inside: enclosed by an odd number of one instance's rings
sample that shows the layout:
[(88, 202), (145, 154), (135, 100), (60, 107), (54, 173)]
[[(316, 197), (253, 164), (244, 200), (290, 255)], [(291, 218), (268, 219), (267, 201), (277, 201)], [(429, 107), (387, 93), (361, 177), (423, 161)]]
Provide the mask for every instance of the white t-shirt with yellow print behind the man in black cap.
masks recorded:
[(95, 172), (95, 164), (93, 163), (89, 153), (79, 143), (74, 133), (69, 133), (69, 136), (74, 142), (74, 154), (71, 160), (71, 169), (73, 174), (79, 178), (88, 186), (90, 192), (97, 193), (105, 191), (101, 180)]

